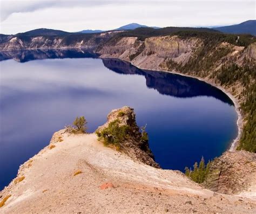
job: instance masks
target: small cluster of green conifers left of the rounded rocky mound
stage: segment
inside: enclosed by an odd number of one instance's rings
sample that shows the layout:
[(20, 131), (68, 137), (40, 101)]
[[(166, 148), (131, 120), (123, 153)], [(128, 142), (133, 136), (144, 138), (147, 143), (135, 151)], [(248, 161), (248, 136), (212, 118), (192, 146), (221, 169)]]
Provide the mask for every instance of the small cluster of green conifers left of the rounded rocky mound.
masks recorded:
[(199, 163), (199, 167), (197, 162), (194, 163), (193, 170), (185, 167), (185, 175), (190, 177), (194, 182), (203, 183), (209, 172), (210, 164), (211, 162), (208, 161), (207, 165), (205, 165), (204, 157), (202, 157)]

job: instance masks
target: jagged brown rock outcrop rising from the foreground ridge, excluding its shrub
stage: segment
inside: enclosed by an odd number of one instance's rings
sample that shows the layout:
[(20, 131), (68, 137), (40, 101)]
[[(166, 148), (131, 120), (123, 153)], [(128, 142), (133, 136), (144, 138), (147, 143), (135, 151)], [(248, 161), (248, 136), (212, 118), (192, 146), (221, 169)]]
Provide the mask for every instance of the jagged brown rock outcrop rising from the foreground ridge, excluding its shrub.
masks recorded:
[(129, 136), (122, 142), (121, 150), (133, 158), (133, 160), (159, 168), (159, 164), (154, 162), (154, 156), (149, 148), (149, 142), (141, 140), (142, 133), (139, 132), (133, 108), (125, 106), (112, 110), (107, 115), (107, 122), (103, 126), (98, 127), (96, 133), (100, 133), (105, 127), (109, 126), (110, 122), (115, 120), (119, 121), (119, 126), (129, 126), (130, 130)]

